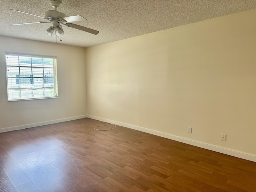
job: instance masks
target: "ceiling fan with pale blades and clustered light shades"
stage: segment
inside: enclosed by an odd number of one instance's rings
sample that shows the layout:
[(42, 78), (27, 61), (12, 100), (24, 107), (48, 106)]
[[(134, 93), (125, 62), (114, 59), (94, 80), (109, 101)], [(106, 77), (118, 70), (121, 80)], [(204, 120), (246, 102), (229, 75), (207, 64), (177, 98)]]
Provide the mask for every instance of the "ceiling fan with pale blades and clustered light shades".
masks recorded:
[(85, 31), (85, 32), (88, 32), (88, 33), (91, 33), (91, 34), (94, 34), (94, 35), (99, 33), (99, 31), (96, 31), (94, 29), (90, 29), (90, 28), (87, 28), (87, 27), (84, 27), (84, 26), (80, 26), (80, 25), (70, 23), (70, 22), (76, 22), (76, 21), (86, 21), (87, 19), (80, 16), (80, 15), (66, 16), (64, 13), (58, 12), (57, 8), (60, 6), (60, 4), (62, 4), (62, 0), (50, 0), (50, 4), (54, 8), (54, 10), (46, 11), (44, 17), (34, 15), (34, 14), (30, 14), (30, 13), (26, 13), (26, 12), (23, 12), (23, 11), (10, 9), (12, 11), (25, 13), (25, 14), (29, 14), (29, 15), (32, 15), (32, 16), (36, 16), (36, 17), (48, 20), (47, 22), (46, 21), (38, 21), (38, 22), (19, 23), (19, 24), (11, 24), (11, 25), (26, 25), (26, 24), (50, 23), (50, 22), (52, 22), (52, 26), (50, 26), (47, 30), (45, 30), (45, 32), (48, 35), (52, 36), (53, 32), (55, 31), (55, 34), (58, 38), (62, 38), (62, 37), (65, 36), (64, 31), (62, 29), (62, 25), (66, 25), (66, 26), (71, 27), (71, 28), (79, 29), (79, 30), (82, 30), (82, 31)]

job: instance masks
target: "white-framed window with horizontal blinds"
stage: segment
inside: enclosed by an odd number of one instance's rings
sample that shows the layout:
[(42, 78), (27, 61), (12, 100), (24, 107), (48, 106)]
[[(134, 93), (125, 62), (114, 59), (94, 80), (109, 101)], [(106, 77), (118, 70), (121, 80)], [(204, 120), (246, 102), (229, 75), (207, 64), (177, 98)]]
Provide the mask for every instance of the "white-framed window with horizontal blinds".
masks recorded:
[(8, 101), (58, 97), (56, 57), (5, 55)]

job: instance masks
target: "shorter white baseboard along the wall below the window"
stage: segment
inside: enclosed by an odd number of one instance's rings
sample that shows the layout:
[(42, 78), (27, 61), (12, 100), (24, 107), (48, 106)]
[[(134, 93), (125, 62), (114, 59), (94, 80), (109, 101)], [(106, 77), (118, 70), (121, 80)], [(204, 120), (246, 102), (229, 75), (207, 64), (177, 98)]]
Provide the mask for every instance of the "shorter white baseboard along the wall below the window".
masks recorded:
[(26, 129), (26, 128), (31, 128), (31, 127), (38, 127), (38, 126), (43, 126), (43, 125), (49, 125), (49, 124), (54, 124), (54, 123), (60, 123), (60, 122), (65, 122), (65, 121), (72, 121), (72, 120), (82, 119), (82, 118), (87, 118), (87, 115), (69, 117), (69, 118), (64, 118), (64, 119), (57, 119), (57, 120), (46, 121), (46, 122), (32, 123), (32, 124), (26, 124), (26, 125), (14, 126), (14, 127), (8, 127), (8, 128), (1, 128), (0, 133), (14, 131), (14, 130), (20, 130), (20, 129)]

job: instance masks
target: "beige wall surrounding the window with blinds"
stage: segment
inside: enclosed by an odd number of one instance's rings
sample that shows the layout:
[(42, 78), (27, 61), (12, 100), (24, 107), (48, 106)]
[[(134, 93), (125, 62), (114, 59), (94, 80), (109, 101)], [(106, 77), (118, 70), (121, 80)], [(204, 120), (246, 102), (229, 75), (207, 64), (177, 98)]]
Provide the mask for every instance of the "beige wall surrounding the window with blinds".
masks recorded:
[[(57, 56), (59, 97), (8, 102), (5, 52)], [(0, 36), (0, 82), (0, 132), (87, 114), (84, 48)]]

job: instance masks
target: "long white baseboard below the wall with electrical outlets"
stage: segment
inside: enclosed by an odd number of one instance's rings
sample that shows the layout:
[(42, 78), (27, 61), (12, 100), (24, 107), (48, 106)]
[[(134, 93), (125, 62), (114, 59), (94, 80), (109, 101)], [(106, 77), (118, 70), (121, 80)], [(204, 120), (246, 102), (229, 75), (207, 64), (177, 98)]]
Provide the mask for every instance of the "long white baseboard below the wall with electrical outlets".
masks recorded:
[(91, 118), (91, 119), (99, 120), (99, 121), (102, 121), (102, 122), (116, 124), (116, 125), (119, 125), (119, 126), (123, 126), (123, 127), (131, 128), (131, 129), (134, 129), (134, 130), (146, 132), (146, 133), (149, 133), (149, 134), (153, 134), (153, 135), (157, 135), (157, 136), (160, 136), (160, 137), (175, 140), (175, 141), (178, 141), (178, 142), (190, 144), (190, 145), (197, 146), (197, 147), (200, 147), (200, 148), (204, 148), (204, 149), (212, 150), (212, 151), (215, 151), (215, 152), (219, 152), (219, 153), (227, 154), (227, 155), (230, 155), (230, 156), (234, 156), (234, 157), (238, 157), (238, 158), (242, 158), (242, 159), (246, 159), (246, 160), (256, 162), (256, 155), (254, 155), (254, 154), (249, 154), (249, 153), (245, 153), (245, 152), (241, 152), (241, 151), (237, 151), (237, 150), (232, 150), (232, 149), (229, 149), (229, 148), (222, 148), (220, 146), (216, 146), (216, 145), (212, 145), (212, 144), (208, 144), (208, 143), (204, 143), (204, 142), (199, 142), (199, 141), (194, 141), (194, 140), (190, 140), (190, 139), (187, 139), (187, 138), (175, 136), (175, 135), (172, 135), (172, 134), (167, 134), (167, 133), (164, 133), (164, 132), (151, 130), (151, 129), (147, 129), (147, 128), (144, 128), (144, 127), (139, 127), (139, 126), (126, 124), (126, 123), (122, 123), (122, 122), (116, 122), (116, 121), (113, 121), (113, 120), (100, 118), (100, 117), (96, 117), (96, 116), (92, 116), (92, 115), (87, 115), (87, 117)]

